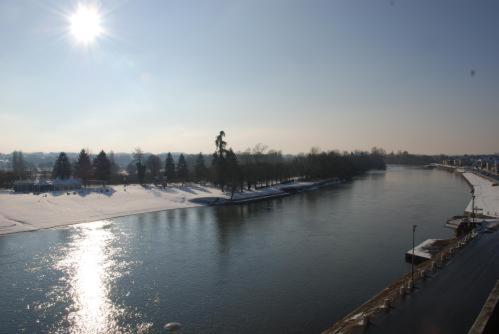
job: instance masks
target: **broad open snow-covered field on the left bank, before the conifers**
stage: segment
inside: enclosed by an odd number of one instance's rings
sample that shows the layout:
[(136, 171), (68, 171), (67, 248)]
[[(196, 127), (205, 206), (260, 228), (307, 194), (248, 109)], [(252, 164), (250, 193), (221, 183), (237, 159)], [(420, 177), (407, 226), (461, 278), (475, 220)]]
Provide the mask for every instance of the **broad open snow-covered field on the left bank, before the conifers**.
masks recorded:
[[(19, 194), (0, 192), (0, 234), (77, 224), (130, 214), (199, 206), (201, 198), (226, 198), (213, 187), (186, 185), (109, 186), (75, 192)], [(206, 201), (205, 201), (206, 202)]]

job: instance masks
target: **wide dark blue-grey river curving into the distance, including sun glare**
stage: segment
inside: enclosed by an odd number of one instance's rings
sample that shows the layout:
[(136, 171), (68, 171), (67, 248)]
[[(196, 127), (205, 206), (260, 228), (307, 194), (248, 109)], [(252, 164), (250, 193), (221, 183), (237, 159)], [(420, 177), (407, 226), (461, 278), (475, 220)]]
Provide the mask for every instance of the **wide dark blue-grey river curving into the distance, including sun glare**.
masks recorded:
[(389, 166), (231, 207), (140, 214), (0, 237), (0, 333), (314, 333), (447, 238), (464, 180)]

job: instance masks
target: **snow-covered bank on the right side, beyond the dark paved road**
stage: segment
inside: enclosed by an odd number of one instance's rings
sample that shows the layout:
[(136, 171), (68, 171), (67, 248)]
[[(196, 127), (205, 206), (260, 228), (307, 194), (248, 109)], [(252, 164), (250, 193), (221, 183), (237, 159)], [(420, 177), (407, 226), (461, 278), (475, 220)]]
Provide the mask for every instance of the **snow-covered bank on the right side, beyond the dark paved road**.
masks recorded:
[[(499, 185), (494, 186), (497, 183), (475, 173), (465, 172), (463, 176), (475, 189), (475, 213), (499, 218)], [(471, 201), (465, 212), (472, 212)]]

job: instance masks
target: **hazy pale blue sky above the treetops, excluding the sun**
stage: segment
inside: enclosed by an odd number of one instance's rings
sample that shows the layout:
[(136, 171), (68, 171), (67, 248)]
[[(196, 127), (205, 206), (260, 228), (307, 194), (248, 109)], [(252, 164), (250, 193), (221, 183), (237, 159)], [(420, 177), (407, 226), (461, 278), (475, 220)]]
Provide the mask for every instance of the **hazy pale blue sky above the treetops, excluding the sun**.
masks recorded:
[(499, 1), (77, 6), (0, 0), (0, 152), (499, 151)]

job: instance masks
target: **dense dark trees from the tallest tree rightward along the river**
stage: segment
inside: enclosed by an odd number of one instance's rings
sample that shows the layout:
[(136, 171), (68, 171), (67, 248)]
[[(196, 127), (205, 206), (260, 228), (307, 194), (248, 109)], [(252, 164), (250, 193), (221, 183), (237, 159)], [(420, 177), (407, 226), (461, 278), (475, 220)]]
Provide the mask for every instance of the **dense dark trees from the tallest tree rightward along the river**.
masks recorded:
[(302, 180), (350, 179), (370, 169), (385, 169), (384, 156), (378, 149), (369, 152), (322, 152), (312, 149), (308, 154), (285, 157), (281, 151), (257, 145), (253, 150), (234, 153), (221, 131), (215, 139), (211, 181), (222, 191), (257, 189), (276, 183)]

